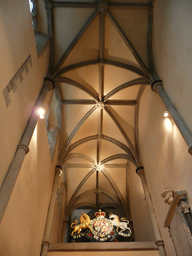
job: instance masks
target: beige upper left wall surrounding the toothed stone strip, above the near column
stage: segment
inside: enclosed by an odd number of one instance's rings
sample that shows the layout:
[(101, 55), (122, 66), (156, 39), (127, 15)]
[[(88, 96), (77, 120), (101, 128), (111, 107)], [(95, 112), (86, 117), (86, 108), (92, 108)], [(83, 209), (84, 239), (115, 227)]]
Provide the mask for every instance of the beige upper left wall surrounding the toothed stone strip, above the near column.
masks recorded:
[[(0, 8), (0, 187), (8, 172), (17, 144), (40, 94), (46, 76), (49, 48), (37, 58), (29, 2), (25, 0), (1, 1)], [(31, 55), (32, 68), (23, 72), (23, 81), (17, 81), (15, 92), (10, 91), (11, 103), (6, 107), (3, 90)], [(9, 152), (9, 154), (7, 153)]]

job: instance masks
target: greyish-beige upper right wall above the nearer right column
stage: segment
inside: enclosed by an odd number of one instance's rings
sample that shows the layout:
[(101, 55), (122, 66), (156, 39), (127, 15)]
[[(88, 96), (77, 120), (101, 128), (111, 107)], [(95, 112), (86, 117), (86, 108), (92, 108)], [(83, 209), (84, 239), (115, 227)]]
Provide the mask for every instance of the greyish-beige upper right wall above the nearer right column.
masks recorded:
[(192, 2), (156, 0), (153, 51), (164, 90), (192, 132)]

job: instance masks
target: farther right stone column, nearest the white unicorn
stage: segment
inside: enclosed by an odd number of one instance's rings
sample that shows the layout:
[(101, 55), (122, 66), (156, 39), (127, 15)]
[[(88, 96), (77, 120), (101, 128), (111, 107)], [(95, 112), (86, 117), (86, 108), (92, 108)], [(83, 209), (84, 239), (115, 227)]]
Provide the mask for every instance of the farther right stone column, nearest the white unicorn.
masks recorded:
[(150, 218), (151, 218), (151, 222), (152, 222), (152, 226), (153, 226), (153, 230), (154, 230), (154, 234), (155, 234), (155, 239), (156, 239), (155, 244), (157, 246), (159, 246), (159, 255), (160, 256), (166, 256), (165, 250), (164, 250), (164, 243), (163, 243), (163, 240), (161, 238), (161, 234), (160, 234), (160, 231), (159, 231), (159, 228), (158, 228), (157, 219), (156, 219), (156, 216), (155, 216), (155, 212), (154, 212), (151, 197), (150, 197), (150, 194), (149, 194), (147, 182), (146, 182), (146, 179), (145, 179), (144, 168), (142, 166), (138, 167), (136, 169), (136, 173), (141, 178), (141, 182), (142, 182), (142, 186), (143, 186), (143, 190), (144, 190), (144, 194), (145, 194), (145, 198), (146, 198), (146, 202), (147, 202), (147, 206), (148, 206), (148, 210), (149, 210), (149, 214), (150, 214)]

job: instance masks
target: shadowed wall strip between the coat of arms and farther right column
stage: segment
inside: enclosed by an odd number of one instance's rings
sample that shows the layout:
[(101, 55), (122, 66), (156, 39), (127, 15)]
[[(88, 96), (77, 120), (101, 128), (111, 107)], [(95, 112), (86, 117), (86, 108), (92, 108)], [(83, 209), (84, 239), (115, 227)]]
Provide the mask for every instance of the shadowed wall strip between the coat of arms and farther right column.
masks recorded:
[(129, 198), (135, 241), (155, 241), (147, 203), (143, 200), (144, 191), (141, 179), (136, 174), (135, 170), (136, 167), (131, 164), (129, 176)]

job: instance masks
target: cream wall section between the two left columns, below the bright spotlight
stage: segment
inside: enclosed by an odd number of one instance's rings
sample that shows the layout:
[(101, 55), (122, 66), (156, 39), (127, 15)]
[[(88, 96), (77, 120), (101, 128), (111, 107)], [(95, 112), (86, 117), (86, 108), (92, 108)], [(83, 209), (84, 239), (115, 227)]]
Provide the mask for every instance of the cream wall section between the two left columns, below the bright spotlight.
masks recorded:
[[(0, 225), (0, 255), (39, 256), (55, 173), (45, 119), (39, 119)], [(57, 150), (56, 150), (57, 151)]]

